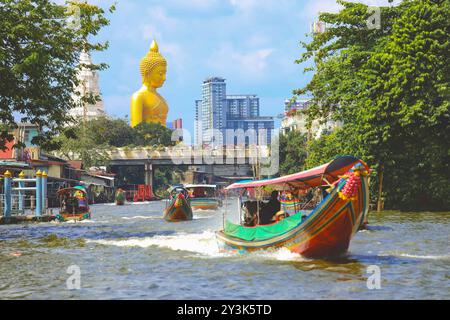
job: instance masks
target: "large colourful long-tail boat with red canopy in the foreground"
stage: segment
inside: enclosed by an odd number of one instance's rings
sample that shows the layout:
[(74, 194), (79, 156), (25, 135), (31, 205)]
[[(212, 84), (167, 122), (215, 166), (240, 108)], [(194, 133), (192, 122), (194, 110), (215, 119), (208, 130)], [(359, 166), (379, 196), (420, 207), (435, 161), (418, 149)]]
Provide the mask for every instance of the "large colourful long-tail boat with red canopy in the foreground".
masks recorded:
[[(343, 156), (319, 167), (279, 178), (234, 183), (226, 189), (261, 191), (269, 188), (278, 194), (291, 192), (293, 195), (307, 191), (310, 199), (292, 201), (291, 204), (297, 208), (290, 216), (281, 210), (282, 201), (278, 199), (275, 210), (280, 210), (274, 213), (274, 220), (279, 217), (284, 219), (271, 224), (245, 226), (242, 222), (233, 224), (227, 220), (224, 229), (216, 233), (218, 242), (222, 248), (235, 252), (285, 247), (311, 258), (341, 255), (348, 250), (350, 240), (366, 221), (369, 209), (368, 174), (369, 167), (365, 162)], [(310, 203), (315, 195), (322, 195), (323, 199), (312, 212), (304, 210), (302, 203)], [(276, 201), (275, 197), (274, 203)], [(256, 203), (257, 207), (264, 208), (263, 203)], [(244, 208), (248, 213), (248, 208), (252, 206), (247, 203)], [(257, 221), (261, 214), (256, 213)]]

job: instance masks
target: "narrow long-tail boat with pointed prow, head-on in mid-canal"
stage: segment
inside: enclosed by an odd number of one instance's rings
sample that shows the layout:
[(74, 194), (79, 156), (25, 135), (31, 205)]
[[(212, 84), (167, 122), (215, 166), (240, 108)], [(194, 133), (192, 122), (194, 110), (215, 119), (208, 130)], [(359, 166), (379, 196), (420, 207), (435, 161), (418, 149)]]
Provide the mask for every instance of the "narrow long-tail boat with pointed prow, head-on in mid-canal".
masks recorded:
[(164, 210), (164, 219), (170, 222), (192, 220), (192, 208), (188, 191), (182, 186), (169, 189), (168, 206)]

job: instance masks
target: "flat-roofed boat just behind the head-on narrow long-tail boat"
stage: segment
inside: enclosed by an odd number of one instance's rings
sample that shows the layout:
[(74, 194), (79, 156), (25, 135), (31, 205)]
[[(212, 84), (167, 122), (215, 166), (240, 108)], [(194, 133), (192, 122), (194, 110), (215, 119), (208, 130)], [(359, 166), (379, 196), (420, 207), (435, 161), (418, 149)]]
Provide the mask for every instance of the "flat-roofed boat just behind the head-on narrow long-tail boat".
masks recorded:
[(192, 209), (215, 210), (221, 205), (215, 184), (187, 184)]

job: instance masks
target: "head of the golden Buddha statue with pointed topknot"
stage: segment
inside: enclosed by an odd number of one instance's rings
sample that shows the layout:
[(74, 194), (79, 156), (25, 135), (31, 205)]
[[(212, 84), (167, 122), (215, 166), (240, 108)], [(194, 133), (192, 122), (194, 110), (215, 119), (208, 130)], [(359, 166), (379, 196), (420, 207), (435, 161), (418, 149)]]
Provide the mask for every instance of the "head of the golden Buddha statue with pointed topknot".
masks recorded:
[(158, 51), (158, 44), (153, 40), (150, 51), (141, 60), (142, 82), (148, 87), (162, 87), (166, 81), (167, 61)]

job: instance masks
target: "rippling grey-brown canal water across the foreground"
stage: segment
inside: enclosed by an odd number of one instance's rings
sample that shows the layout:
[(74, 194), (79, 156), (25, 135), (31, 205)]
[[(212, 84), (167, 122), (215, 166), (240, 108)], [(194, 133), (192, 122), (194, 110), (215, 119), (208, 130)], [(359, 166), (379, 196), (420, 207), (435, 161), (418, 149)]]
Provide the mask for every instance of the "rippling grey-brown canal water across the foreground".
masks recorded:
[(164, 207), (99, 204), (91, 221), (0, 226), (0, 299), (450, 299), (450, 212), (373, 213), (345, 257), (324, 261), (220, 252), (214, 232), (225, 210), (237, 220), (236, 200), (180, 223)]

